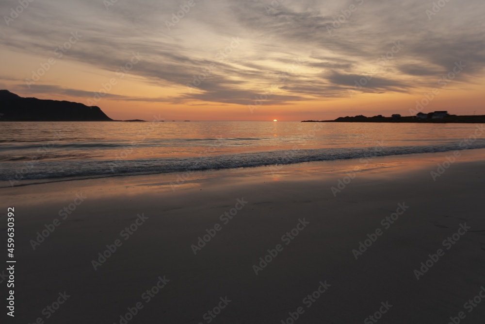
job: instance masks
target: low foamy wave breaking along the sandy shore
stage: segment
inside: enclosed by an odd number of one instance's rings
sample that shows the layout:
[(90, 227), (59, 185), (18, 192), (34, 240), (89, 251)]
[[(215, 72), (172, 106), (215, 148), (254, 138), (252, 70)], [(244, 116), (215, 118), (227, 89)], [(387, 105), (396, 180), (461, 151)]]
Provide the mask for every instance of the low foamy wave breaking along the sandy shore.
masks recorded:
[(218, 156), (201, 155), (191, 158), (127, 159), (117, 161), (65, 160), (48, 162), (35, 160), (30, 163), (3, 162), (3, 168), (0, 171), (0, 180), (59, 179), (121, 174), (218, 170), (483, 148), (485, 148), (485, 140), (476, 141), (473, 145), (470, 144), (468, 146), (460, 143), (426, 146), (296, 149)]

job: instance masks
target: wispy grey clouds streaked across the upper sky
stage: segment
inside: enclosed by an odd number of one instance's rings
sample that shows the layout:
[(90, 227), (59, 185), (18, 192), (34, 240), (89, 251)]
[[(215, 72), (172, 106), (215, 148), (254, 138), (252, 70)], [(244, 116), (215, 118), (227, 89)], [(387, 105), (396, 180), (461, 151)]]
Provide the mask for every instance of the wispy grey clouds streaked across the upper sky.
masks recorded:
[[(63, 60), (114, 71), (139, 52), (143, 58), (130, 74), (181, 90), (170, 98), (110, 94), (113, 100), (244, 105), (276, 84), (279, 90), (268, 103), (284, 104), (342, 97), (372, 67), (377, 72), (364, 92), (412, 92), (436, 84), (457, 61), (467, 65), (460, 80), (473, 83), (485, 67), (485, 30), (470, 23), (485, 14), (482, 1), (447, 2), (429, 19), (426, 10), (432, 4), (420, 0), (195, 0), (169, 30), (166, 22), (173, 23), (172, 14), (184, 1), (117, 1), (107, 9), (99, 0), (45, 0), (30, 3), (10, 26), (1, 25), (0, 44), (48, 58), (78, 31), (82, 40)], [(2, 1), (0, 12), (10, 12), (15, 4)], [(356, 10), (349, 16), (351, 5)], [(221, 57), (233, 37), (240, 45)], [(385, 66), (377, 64), (396, 41), (403, 49)], [(305, 64), (284, 83), (278, 81), (302, 58)], [(215, 68), (198, 90), (190, 91), (187, 84), (211, 65)], [(98, 88), (36, 85), (30, 91), (89, 98), (87, 90)]]

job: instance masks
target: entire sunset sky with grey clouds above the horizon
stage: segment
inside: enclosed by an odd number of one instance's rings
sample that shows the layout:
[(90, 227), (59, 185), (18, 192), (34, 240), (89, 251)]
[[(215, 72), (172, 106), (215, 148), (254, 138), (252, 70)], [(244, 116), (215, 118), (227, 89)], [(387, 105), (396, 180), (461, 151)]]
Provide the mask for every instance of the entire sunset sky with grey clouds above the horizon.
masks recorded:
[(0, 88), (113, 119), (485, 114), (483, 0), (2, 0)]

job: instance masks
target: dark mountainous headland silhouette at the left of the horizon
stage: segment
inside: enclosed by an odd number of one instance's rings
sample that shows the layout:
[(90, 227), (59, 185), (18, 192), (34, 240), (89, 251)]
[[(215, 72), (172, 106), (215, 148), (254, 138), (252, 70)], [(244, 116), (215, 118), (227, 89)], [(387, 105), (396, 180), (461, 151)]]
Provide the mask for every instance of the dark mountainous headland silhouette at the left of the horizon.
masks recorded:
[(112, 121), (97, 106), (78, 102), (23, 98), (0, 90), (0, 121)]

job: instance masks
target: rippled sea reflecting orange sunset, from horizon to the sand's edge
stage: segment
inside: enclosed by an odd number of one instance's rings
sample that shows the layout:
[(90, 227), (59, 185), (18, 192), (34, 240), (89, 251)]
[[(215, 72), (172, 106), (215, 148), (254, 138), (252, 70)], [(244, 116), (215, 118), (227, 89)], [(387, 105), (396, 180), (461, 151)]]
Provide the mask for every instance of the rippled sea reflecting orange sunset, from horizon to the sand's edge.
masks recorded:
[(476, 129), (293, 121), (1, 122), (0, 180), (19, 184), (485, 148), (480, 137), (463, 144)]

